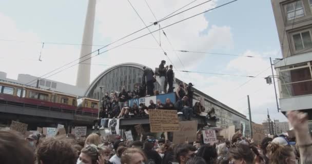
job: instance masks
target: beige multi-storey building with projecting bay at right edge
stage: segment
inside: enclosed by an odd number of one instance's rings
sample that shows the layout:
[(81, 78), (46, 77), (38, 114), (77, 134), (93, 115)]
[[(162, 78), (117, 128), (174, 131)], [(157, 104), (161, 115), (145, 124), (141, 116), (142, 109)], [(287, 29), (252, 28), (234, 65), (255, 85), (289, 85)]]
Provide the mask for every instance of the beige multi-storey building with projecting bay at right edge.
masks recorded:
[(274, 61), (280, 110), (302, 110), (311, 120), (312, 0), (271, 0), (271, 4), (283, 55)]

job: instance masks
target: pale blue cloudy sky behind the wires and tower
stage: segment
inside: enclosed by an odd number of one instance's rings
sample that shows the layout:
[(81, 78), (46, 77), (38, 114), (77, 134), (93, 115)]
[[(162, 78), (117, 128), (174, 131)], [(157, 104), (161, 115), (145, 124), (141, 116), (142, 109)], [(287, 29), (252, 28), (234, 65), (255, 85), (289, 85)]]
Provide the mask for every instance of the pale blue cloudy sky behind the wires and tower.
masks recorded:
[[(134, 6), (142, 14), (146, 23), (154, 21), (149, 10), (144, 6), (144, 1), (131, 2), (133, 2)], [(154, 13), (160, 18), (191, 1), (149, 0), (148, 2), (154, 10)], [(200, 2), (204, 1), (199, 0), (194, 4), (199, 4)], [(189, 13), (182, 14), (180, 18), (199, 13), (207, 8), (218, 6), (226, 2), (229, 1), (219, 0), (214, 2), (214, 4), (206, 4), (205, 7), (197, 8)], [(0, 1), (0, 14), (5, 16), (6, 20), (9, 19), (13, 22), (14, 26), (12, 25), (12, 27), (15, 28), (12, 30), (11, 26), (4, 26), (6, 28), (3, 29), (3, 33), (0, 33), (0, 39), (80, 44), (82, 42), (86, 8), (86, 0)], [(168, 20), (168, 23), (162, 23), (162, 25), (165, 26), (174, 22), (174, 20), (175, 19)], [(179, 18), (177, 18), (177, 20), (179, 20)], [(133, 13), (127, 1), (98, 1), (93, 44), (108, 44), (111, 40), (142, 27), (144, 27), (144, 25), (140, 22), (140, 19), (135, 13)], [(183, 31), (183, 28), (189, 29), (189, 31)], [(10, 34), (10, 31), (13, 31), (14, 34), (13, 32)], [(165, 29), (165, 31), (175, 49), (281, 57), (280, 53), (278, 53), (280, 47), (275, 19), (272, 13), (271, 3), (268, 0), (239, 0), (230, 5), (213, 10), (212, 12), (207, 12), (204, 16), (192, 18), (182, 24), (169, 27)], [(27, 34), (26, 36), (31, 35), (32, 38), (19, 36), (24, 34)], [(214, 40), (216, 40), (216, 42), (214, 42)], [(21, 43), (15, 42), (5, 43), (0, 41), (0, 43), (6, 44), (7, 48), (21, 45)], [(162, 38), (162, 43), (166, 50), (171, 49), (164, 37)], [(216, 45), (214, 45), (214, 43), (216, 43)], [(23, 56), (28, 59), (36, 60), (41, 46), (41, 44), (30, 43), (30, 45), (25, 47), (18, 47), (19, 51), (16, 52), (11, 52), (11, 49), (3, 47), (0, 48), (0, 50), (3, 52), (8, 51), (8, 53), (1, 54), (0, 57), (16, 55), (16, 57)], [(133, 42), (133, 44), (125, 45), (125, 47), (158, 48), (150, 36)], [(95, 48), (97, 47), (94, 47), (94, 49)], [(24, 69), (11, 67), (14, 61), (10, 60), (7, 62), (8, 65), (0, 67), (0, 71), (3, 70), (7, 72), (8, 77), (12, 78), (16, 78), (18, 73), (40, 76), (57, 68), (57, 66), (61, 66), (62, 63), (67, 63), (68, 61), (78, 58), (79, 50), (80, 46), (46, 45), (43, 49), (42, 63), (29, 61), (31, 67)], [(130, 59), (127, 59), (127, 57), (129, 57), (129, 55), (127, 55), (128, 53), (132, 56)], [(144, 57), (144, 55), (148, 54), (153, 56)], [(176, 65), (178, 69), (184, 69), (180, 66), (179, 60), (172, 51), (168, 51), (168, 54), (173, 60), (173, 64)], [(155, 67), (159, 65), (158, 61), (153, 62), (152, 60), (160, 61), (161, 58), (164, 58), (162, 55), (162, 52), (159, 50), (135, 50), (125, 48), (123, 50), (113, 50), (111, 53), (96, 57), (92, 60), (92, 63), (115, 65), (123, 61), (132, 61), (133, 58), (137, 57), (138, 59), (133, 61)], [(268, 59), (261, 58), (249, 60), (248, 58), (235, 56), (188, 53), (178, 53), (178, 55), (181, 57), (184, 65), (186, 65), (185, 69), (191, 71), (256, 75), (264, 71), (266, 67), (269, 67)], [(38, 67), (42, 69), (37, 69)], [(95, 78), (106, 68), (105, 66), (92, 66), (91, 79)], [(72, 68), (50, 78), (62, 81), (63, 83), (74, 84), (76, 70), (76, 68)], [(70, 74), (70, 76), (68, 76), (68, 74)], [(180, 76), (178, 73), (176, 74)], [(252, 101), (256, 101), (252, 107), (254, 107), (256, 111), (255, 117), (259, 116), (259, 118), (257, 118), (258, 122), (261, 122), (265, 117), (266, 108), (271, 109), (276, 118), (285, 120), (284, 116), (274, 112), (276, 111), (276, 107), (273, 88), (272, 86), (267, 87), (262, 78), (256, 78), (238, 90), (234, 90), (245, 83), (249, 78), (223, 77), (209, 74), (181, 74), (183, 80), (195, 81), (195, 85), (198, 89), (245, 115), (247, 115), (246, 101), (241, 97), (251, 94), (250, 97), (251, 99), (253, 98)], [(261, 74), (261, 76), (268, 76), (269, 74), (270, 70), (267, 70)], [(261, 88), (263, 88), (263, 90)]]

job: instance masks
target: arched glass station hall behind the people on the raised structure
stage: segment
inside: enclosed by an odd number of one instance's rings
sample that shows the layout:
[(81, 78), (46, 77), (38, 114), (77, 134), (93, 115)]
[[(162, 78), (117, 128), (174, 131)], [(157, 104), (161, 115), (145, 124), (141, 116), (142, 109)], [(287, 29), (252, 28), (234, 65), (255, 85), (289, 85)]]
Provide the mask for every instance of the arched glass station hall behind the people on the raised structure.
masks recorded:
[[(99, 99), (100, 98), (100, 86), (104, 87), (105, 92), (116, 91), (120, 92), (122, 87), (125, 86), (127, 91), (132, 91), (135, 85), (142, 83), (143, 65), (136, 63), (125, 63), (113, 66), (99, 76), (97, 76), (91, 85), (88, 87), (85, 96)], [(175, 79), (174, 86), (178, 88), (178, 84), (181, 80)], [(156, 82), (155, 90), (160, 89), (160, 85)], [(194, 98), (196, 101), (201, 100), (206, 112), (214, 108), (216, 116), (219, 118), (217, 127), (220, 129), (235, 125), (236, 129), (245, 129), (245, 134), (249, 134), (249, 123), (245, 115), (238, 111), (226, 106), (220, 101), (208, 96), (207, 94), (194, 88)], [(165, 103), (165, 102), (162, 102)]]

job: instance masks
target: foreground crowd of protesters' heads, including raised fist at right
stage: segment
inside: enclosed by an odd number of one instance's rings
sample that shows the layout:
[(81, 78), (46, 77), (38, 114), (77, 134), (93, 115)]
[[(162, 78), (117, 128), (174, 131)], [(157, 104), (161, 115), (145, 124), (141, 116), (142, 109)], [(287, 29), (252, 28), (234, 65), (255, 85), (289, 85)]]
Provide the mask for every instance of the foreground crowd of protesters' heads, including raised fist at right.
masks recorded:
[(1, 163), (14, 164), (292, 164), (312, 163), (312, 139), (308, 132), (307, 115), (297, 111), (287, 114), (296, 133), (295, 145), (284, 137), (264, 138), (259, 144), (245, 139), (240, 133), (231, 141), (203, 144), (197, 141), (174, 145), (170, 140), (157, 140), (152, 134), (140, 140), (116, 138), (110, 142), (97, 133), (85, 140), (71, 135), (44, 137), (32, 134), (26, 139), (18, 133), (0, 132)]

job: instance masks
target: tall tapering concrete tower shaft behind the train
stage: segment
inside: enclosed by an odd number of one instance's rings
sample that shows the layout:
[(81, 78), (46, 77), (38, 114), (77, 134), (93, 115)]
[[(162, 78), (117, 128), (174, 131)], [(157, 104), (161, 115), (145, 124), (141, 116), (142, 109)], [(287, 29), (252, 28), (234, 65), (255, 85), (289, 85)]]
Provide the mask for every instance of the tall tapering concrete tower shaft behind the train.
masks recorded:
[(78, 72), (77, 72), (77, 80), (76, 80), (76, 86), (81, 87), (81, 88), (87, 88), (90, 84), (91, 59), (88, 59), (86, 61), (83, 61), (83, 60), (91, 57), (91, 54), (89, 53), (91, 53), (92, 51), (92, 46), (84, 46), (84, 45), (92, 45), (94, 17), (95, 17), (95, 4), (96, 4), (96, 0), (89, 0), (86, 20), (85, 20), (85, 28), (84, 28), (83, 39), (82, 39), (83, 46), (81, 46), (81, 51), (80, 51), (80, 57), (82, 58), (79, 60), (82, 63), (79, 64)]

